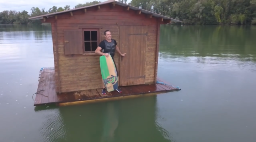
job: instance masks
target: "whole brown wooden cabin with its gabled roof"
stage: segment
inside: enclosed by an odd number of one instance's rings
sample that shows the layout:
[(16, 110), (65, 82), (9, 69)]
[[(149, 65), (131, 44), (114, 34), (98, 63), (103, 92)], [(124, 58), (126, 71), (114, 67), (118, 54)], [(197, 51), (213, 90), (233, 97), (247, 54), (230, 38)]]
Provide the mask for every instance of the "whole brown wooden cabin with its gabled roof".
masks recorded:
[(158, 67), (160, 25), (181, 22), (118, 1), (31, 17), (51, 23), (54, 51), (55, 90), (66, 93), (102, 88), (99, 43), (110, 30), (117, 51), (120, 87), (155, 84)]

